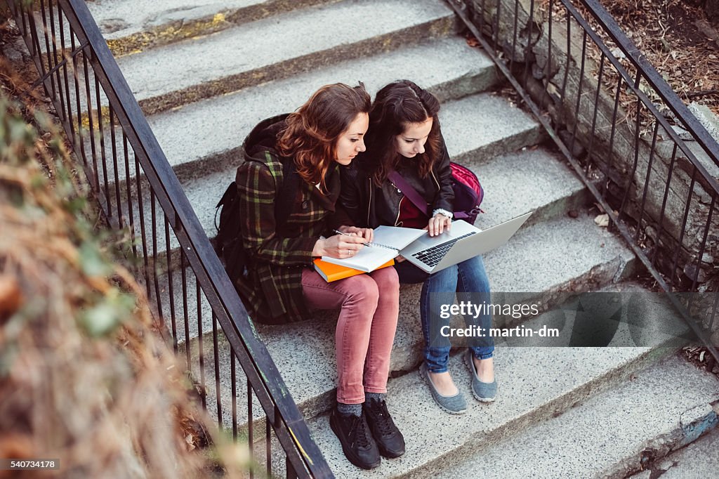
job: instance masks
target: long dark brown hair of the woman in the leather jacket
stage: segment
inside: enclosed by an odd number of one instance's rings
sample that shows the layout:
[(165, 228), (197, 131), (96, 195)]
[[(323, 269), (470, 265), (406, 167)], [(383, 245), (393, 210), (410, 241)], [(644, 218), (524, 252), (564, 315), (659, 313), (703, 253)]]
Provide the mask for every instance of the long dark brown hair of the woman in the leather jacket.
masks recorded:
[(439, 158), (439, 100), (432, 93), (409, 80), (398, 80), (377, 92), (370, 111), (370, 129), (365, 137), (372, 179), (380, 186), (390, 171), (400, 163), (395, 138), (402, 134), (408, 124), (422, 123), (432, 119), (432, 128), (424, 145), (424, 152), (417, 155), (418, 170), (422, 178), (429, 175), (432, 165)]

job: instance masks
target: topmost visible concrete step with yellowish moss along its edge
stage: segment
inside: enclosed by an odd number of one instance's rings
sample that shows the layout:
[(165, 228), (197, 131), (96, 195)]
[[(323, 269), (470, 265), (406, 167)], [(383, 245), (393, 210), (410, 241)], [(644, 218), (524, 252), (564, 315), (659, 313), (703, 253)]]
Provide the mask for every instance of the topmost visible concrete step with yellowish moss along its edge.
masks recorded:
[(116, 56), (339, 0), (98, 0), (88, 9)]

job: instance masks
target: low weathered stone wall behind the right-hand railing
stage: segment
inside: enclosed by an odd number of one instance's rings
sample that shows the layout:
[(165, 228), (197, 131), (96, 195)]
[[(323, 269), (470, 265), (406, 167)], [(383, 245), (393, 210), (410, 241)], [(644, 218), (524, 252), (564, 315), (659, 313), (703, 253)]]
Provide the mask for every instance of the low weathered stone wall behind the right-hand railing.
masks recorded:
[[(700, 288), (707, 288), (715, 279), (715, 264), (719, 265), (719, 254), (715, 254), (719, 245), (717, 206), (711, 217), (707, 245), (698, 271), (695, 264), (704, 237), (713, 188), (699, 173), (695, 175), (692, 184), (695, 168), (680, 148), (677, 149), (677, 158), (670, 172), (674, 142), (669, 140), (669, 135), (662, 127), (659, 127), (659, 141), (652, 154), (654, 124), (650, 125), (648, 133), (642, 132), (640, 128), (642, 136), (638, 144), (635, 142), (636, 119), (629, 118), (621, 106), (613, 124), (614, 92), (603, 86), (597, 96), (599, 65), (589, 55), (584, 55), (582, 73), (582, 29), (579, 25), (572, 22), (569, 27), (567, 62), (567, 23), (564, 14), (554, 15), (550, 44), (549, 23), (538, 20), (538, 14), (535, 14), (533, 22), (529, 21), (530, 0), (500, 0), (499, 8), (495, 1), (491, 2), (492, 6), (489, 1), (482, 0), (464, 0), (464, 3), (475, 25), (483, 26), (483, 33), (498, 29), (499, 48), (505, 58), (513, 60), (516, 73), (522, 73), (525, 69), (531, 73), (526, 81), (521, 74), (516, 77), (536, 104), (548, 112), (551, 124), (575, 158), (583, 165), (587, 162), (592, 164), (591, 168), (599, 178), (595, 185), (600, 191), (606, 188), (605, 198), (608, 203), (614, 209), (619, 209), (623, 201), (626, 203), (626, 224), (632, 232), (636, 232), (638, 227), (638, 245), (650, 259), (656, 252), (657, 268), (669, 276), (678, 252), (674, 280), (681, 283), (677, 287), (686, 291), (692, 281), (697, 279)], [(480, 22), (482, 4), (485, 5), (484, 22)], [(536, 9), (539, 2), (535, 1), (534, 4)], [(587, 38), (587, 51), (591, 42)], [(613, 66), (605, 60), (604, 68), (606, 73)], [(564, 96), (561, 95), (563, 90)], [(580, 98), (578, 107), (577, 98)], [(592, 124), (595, 124), (593, 135)], [(613, 127), (614, 138), (610, 142)], [(573, 136), (575, 142), (571, 145)], [(688, 143), (682, 144), (688, 148)], [(719, 177), (719, 168), (713, 163), (705, 163), (705, 167), (714, 178)], [(670, 173), (671, 183), (664, 204)], [(645, 184), (648, 185), (646, 192)], [(691, 198), (691, 202), (687, 228), (682, 236), (688, 198)], [(661, 214), (662, 209), (664, 215)], [(644, 213), (641, 213), (642, 210)], [(715, 288), (713, 290), (716, 291)]]

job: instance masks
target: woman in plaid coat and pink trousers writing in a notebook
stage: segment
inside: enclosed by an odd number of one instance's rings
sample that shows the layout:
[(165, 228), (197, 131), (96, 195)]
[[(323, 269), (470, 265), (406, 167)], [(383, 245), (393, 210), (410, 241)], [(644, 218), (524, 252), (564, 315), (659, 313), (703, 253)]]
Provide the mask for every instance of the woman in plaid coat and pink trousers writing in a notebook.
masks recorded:
[[(372, 229), (346, 226), (335, 208), (338, 166), (365, 150), (369, 111), (364, 86), (323, 86), (296, 112), (258, 124), (244, 141), (245, 163), (237, 169), (249, 258), (237, 290), (252, 318), (265, 323), (306, 319), (311, 309), (340, 309), (337, 405), (330, 424), (347, 458), (365, 469), (380, 464), (380, 453), (398, 457), (405, 451), (385, 403), (398, 276), (383, 268), (327, 283), (312, 260), (352, 257), (372, 240)], [(283, 181), (290, 181), (288, 171), (300, 181), (288, 219), (278, 225), (275, 202)]]

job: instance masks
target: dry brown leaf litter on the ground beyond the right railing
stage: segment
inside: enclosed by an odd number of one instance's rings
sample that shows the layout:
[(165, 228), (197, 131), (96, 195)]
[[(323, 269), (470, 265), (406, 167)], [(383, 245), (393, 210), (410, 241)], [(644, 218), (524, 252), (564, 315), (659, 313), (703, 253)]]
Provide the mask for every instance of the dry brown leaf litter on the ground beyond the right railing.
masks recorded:
[[(542, 0), (539, 4), (540, 18), (548, 17), (549, 3), (550, 0)], [(685, 104), (695, 101), (719, 114), (719, 25), (712, 26), (707, 20), (700, 6), (702, 0), (602, 0), (601, 3)], [(564, 19), (566, 12), (561, 2), (554, 1), (553, 6), (554, 19)], [(615, 42), (585, 9), (581, 6), (577, 6), (577, 9), (633, 78), (636, 74), (633, 64), (623, 58)], [(591, 40), (587, 52), (599, 65), (600, 50)], [(598, 75), (599, 72), (595, 70), (593, 73)], [(602, 82), (612, 95), (616, 91), (618, 78), (614, 68), (605, 62)], [(669, 119), (670, 124), (677, 124), (674, 114), (646, 81), (641, 82), (640, 89), (654, 102), (659, 112)], [(630, 127), (629, 119), (636, 118), (636, 100), (636, 95), (623, 83), (620, 105), (626, 112)], [(641, 134), (646, 136), (653, 128), (654, 118), (644, 107), (639, 111)]]

